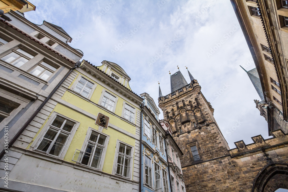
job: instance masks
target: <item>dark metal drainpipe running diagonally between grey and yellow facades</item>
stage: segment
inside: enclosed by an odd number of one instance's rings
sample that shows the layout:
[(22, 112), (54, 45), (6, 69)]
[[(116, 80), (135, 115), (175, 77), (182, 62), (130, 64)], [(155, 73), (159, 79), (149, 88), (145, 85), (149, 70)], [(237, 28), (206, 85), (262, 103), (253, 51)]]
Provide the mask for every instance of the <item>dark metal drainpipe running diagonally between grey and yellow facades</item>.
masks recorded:
[[(8, 145), (8, 149), (10, 149), (10, 147), (12, 147), (12, 145), (14, 144), (14, 142), (18, 139), (18, 137), (23, 133), (23, 131), (27, 128), (27, 126), (31, 123), (31, 121), (34, 119), (34, 117), (39, 113), (39, 111), (44, 107), (44, 105), (48, 102), (48, 100), (52, 97), (52, 95), (56, 92), (56, 90), (60, 87), (60, 85), (65, 81), (65, 79), (70, 75), (70, 73), (76, 69), (77, 67), (80, 67), (81, 62), (78, 61), (75, 63), (75, 66), (70, 69), (68, 71), (68, 73), (65, 75), (65, 77), (62, 78), (62, 80), (58, 83), (58, 85), (53, 89), (53, 91), (48, 95), (48, 97), (43, 101), (43, 103), (40, 105), (40, 107), (38, 107), (38, 109), (33, 113), (33, 115), (30, 117), (30, 119), (28, 119), (28, 121), (25, 123), (25, 125), (19, 130), (19, 132), (12, 138), (12, 140), (10, 140), (9, 145)], [(0, 159), (2, 159), (2, 157), (5, 154), (5, 150), (3, 149), (3, 151), (0, 154)]]

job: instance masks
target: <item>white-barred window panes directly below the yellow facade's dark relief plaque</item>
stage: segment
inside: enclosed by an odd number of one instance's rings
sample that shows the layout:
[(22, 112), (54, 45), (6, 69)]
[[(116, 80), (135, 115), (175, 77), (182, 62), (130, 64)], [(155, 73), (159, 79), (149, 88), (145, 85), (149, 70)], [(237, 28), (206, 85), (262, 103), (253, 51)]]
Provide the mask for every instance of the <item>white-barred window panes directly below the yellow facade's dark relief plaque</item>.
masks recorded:
[(99, 169), (105, 148), (105, 141), (106, 136), (92, 131), (81, 164)]

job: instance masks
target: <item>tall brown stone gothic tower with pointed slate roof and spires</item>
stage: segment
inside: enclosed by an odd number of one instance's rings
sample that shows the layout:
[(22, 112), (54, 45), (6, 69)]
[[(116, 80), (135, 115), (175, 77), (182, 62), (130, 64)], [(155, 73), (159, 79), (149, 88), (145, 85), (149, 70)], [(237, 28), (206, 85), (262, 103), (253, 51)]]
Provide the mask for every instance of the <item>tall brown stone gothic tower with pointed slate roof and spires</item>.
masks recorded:
[[(171, 93), (162, 96), (159, 88), (158, 98), (164, 119), (172, 128), (172, 136), (184, 153), (182, 168), (229, 155), (228, 144), (213, 117), (214, 109), (202, 94), (197, 80), (189, 71), (188, 74), (190, 83), (180, 71), (171, 75)], [(189, 168), (183, 171), (186, 185), (197, 180), (190, 174), (195, 171)]]

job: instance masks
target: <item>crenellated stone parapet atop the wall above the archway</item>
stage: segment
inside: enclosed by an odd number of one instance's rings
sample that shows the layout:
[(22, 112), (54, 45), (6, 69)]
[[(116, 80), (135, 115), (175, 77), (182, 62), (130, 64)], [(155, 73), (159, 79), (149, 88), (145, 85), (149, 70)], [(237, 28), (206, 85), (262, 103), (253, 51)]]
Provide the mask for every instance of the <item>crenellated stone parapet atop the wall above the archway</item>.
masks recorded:
[(234, 142), (236, 148), (230, 149), (229, 153), (232, 158), (240, 158), (256, 153), (264, 153), (273, 149), (287, 146), (288, 134), (281, 129), (270, 132), (273, 138), (264, 139), (262, 135), (251, 137), (253, 143), (246, 145), (243, 140)]

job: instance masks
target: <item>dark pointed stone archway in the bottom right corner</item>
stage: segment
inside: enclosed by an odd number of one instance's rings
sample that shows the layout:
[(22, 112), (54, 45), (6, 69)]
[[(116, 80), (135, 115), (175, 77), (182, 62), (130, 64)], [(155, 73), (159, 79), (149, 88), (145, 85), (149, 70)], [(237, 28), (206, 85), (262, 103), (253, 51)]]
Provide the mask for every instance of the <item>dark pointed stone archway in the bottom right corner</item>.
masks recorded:
[(252, 192), (274, 192), (279, 188), (288, 189), (288, 164), (270, 164), (256, 176)]

